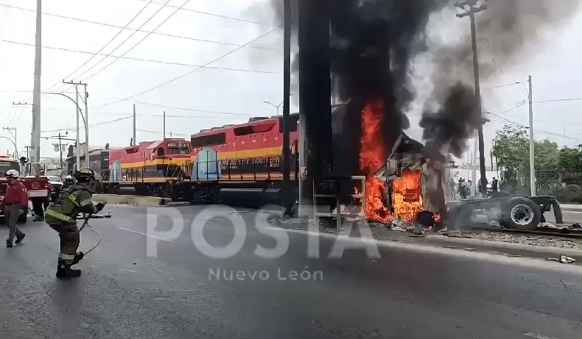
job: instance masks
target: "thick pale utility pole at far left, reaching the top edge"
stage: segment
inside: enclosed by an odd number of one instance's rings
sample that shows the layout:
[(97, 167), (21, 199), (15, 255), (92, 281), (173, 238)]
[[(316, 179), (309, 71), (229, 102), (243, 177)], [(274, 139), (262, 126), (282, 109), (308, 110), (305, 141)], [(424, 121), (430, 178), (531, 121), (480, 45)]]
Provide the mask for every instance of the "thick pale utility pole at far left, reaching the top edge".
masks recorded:
[(42, 0), (37, 0), (36, 34), (34, 38), (34, 88), (33, 88), (33, 128), (30, 135), (30, 148), (33, 149), (31, 162), (40, 161), (40, 76), (42, 58)]

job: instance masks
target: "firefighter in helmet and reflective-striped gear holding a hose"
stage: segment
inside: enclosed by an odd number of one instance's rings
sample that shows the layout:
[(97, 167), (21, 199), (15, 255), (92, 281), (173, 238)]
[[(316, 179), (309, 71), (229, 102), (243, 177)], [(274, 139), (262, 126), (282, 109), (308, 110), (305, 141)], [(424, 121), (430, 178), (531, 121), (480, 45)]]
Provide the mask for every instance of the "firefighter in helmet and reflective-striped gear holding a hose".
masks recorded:
[(105, 206), (100, 202), (93, 205), (93, 182), (95, 172), (88, 168), (82, 168), (75, 172), (77, 183), (63, 188), (59, 197), (47, 208), (47, 224), (59, 233), (61, 238), (61, 253), (59, 254), (56, 277), (79, 277), (81, 271), (72, 269), (83, 259), (83, 252), (77, 252), (79, 247), (79, 229), (77, 229), (76, 217), (79, 213), (93, 214), (102, 210)]

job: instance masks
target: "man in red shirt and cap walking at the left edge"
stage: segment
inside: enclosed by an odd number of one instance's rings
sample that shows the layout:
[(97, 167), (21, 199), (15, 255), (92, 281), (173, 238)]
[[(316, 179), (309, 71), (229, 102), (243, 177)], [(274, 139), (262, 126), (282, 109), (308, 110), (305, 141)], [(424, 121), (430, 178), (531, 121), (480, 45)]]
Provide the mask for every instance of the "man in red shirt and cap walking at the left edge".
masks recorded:
[(16, 226), (18, 216), (24, 212), (23, 207), (28, 205), (29, 197), (26, 194), (26, 188), (18, 181), (20, 173), (17, 170), (8, 170), (6, 172), (8, 178), (8, 188), (6, 195), (0, 203), (0, 209), (4, 211), (4, 217), (8, 221), (8, 238), (6, 238), (6, 247), (12, 247), (14, 238), (16, 237), (16, 244), (20, 244), (24, 239), (24, 233)]

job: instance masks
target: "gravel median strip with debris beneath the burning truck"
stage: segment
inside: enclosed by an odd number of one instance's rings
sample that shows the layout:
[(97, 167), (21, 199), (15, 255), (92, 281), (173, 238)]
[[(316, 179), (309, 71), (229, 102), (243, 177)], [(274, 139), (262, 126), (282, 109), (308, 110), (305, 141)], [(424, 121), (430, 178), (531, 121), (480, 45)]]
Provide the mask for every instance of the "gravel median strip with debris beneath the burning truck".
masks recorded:
[[(307, 229), (307, 220), (300, 219), (300, 218), (285, 218), (281, 219), (280, 217), (273, 217), (269, 220), (272, 224), (276, 224), (277, 226), (289, 229)], [(333, 222), (335, 223), (335, 222)], [(346, 232), (352, 224), (346, 224), (341, 230), (337, 230), (335, 225), (329, 225), (325, 223), (320, 223), (320, 231), (325, 233), (332, 233), (338, 234), (342, 232)], [(388, 241), (405, 241), (405, 242), (424, 242), (426, 239), (422, 236), (415, 236), (410, 231), (406, 230), (395, 230), (389, 229), (388, 227), (382, 224), (370, 224), (370, 231), (375, 239), (377, 240), (388, 240)], [(435, 234), (442, 237), (443, 240), (446, 240), (448, 237), (457, 237), (457, 238), (472, 238), (477, 240), (485, 240), (485, 241), (499, 241), (499, 242), (509, 242), (513, 244), (522, 244), (522, 245), (531, 245), (537, 247), (556, 247), (556, 248), (570, 248), (570, 249), (579, 249), (582, 251), (582, 239), (573, 239), (573, 238), (561, 238), (559, 236), (556, 237), (548, 237), (544, 235), (523, 235), (523, 234), (513, 234), (513, 233), (497, 233), (497, 232), (488, 232), (488, 231), (466, 231), (463, 233), (451, 233), (451, 232), (443, 232), (443, 233), (427, 233), (427, 234)], [(350, 232), (350, 236), (352, 237), (360, 237), (360, 232), (358, 227), (352, 227), (352, 231)]]

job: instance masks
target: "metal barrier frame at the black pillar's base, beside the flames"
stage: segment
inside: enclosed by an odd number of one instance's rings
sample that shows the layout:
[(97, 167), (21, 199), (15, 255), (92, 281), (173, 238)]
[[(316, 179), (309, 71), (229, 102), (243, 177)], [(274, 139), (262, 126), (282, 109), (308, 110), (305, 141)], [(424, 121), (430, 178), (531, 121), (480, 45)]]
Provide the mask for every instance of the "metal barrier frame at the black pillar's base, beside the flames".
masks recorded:
[[(335, 217), (336, 218), (336, 228), (340, 229), (342, 227), (342, 217), (360, 217), (363, 220), (367, 219), (366, 215), (366, 201), (365, 201), (365, 176), (324, 176), (320, 178), (322, 181), (335, 181), (335, 191), (336, 194), (317, 194), (315, 185), (315, 179), (313, 180), (313, 204), (317, 206), (317, 198), (335, 198), (335, 213), (314, 213), (314, 217), (319, 221), (320, 217)], [(362, 184), (362, 190), (357, 194), (350, 194), (349, 197), (360, 199), (361, 211), (359, 213), (342, 213), (342, 206), (340, 201), (340, 181), (348, 180), (359, 180)]]

